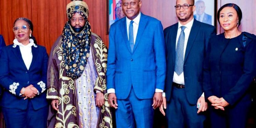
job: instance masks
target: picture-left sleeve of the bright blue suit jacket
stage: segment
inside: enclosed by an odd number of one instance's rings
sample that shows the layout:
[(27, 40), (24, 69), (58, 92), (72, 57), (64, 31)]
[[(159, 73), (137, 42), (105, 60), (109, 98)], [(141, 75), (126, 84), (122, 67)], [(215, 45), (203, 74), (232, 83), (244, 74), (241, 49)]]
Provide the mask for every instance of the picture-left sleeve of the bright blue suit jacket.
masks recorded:
[[(113, 26), (113, 25), (112, 25)], [(116, 64), (116, 54), (115, 54), (115, 40), (114, 40), (114, 30), (110, 27), (109, 31), (109, 52), (108, 52), (108, 63), (107, 63), (107, 89), (114, 88), (114, 77), (115, 77), (115, 64)]]

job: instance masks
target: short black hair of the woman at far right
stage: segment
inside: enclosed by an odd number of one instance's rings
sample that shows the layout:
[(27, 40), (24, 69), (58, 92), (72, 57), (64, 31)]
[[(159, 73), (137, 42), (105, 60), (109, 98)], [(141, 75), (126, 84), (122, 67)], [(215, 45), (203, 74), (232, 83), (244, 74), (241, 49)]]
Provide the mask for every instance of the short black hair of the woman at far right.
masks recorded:
[(221, 6), (221, 8), (219, 8), (218, 13), (217, 13), (218, 23), (219, 23), (219, 15), (220, 15), (221, 11), (226, 7), (232, 7), (236, 10), (237, 15), (238, 15), (238, 27), (239, 27), (241, 25), (241, 20), (242, 20), (242, 10), (239, 8), (239, 6), (237, 4), (234, 4), (234, 3), (227, 3), (227, 4), (224, 4), (223, 6)]

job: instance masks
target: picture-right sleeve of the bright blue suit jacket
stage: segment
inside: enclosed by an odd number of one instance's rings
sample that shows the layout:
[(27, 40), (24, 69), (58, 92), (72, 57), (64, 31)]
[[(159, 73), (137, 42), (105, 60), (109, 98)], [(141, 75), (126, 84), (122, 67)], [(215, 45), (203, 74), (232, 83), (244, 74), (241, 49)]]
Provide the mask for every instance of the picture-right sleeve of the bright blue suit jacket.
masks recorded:
[(157, 23), (153, 41), (156, 56), (156, 88), (164, 90), (166, 77), (165, 38), (160, 21)]

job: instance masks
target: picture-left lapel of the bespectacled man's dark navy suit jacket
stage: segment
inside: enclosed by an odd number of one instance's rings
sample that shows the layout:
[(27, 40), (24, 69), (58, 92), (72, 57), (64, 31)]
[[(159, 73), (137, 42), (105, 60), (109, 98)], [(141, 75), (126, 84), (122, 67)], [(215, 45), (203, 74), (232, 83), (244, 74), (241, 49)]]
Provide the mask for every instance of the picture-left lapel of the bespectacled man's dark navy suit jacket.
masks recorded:
[(178, 32), (178, 24), (175, 24), (174, 29), (170, 32), (171, 33), (171, 50), (172, 50), (172, 61), (175, 62), (175, 55), (176, 55), (176, 37)]

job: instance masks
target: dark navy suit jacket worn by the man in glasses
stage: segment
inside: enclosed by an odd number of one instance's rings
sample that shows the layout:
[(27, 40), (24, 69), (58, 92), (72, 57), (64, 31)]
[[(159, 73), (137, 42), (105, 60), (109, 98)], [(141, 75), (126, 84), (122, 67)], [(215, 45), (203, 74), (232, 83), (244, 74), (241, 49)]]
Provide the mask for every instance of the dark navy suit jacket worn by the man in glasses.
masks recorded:
[[(172, 80), (175, 66), (175, 48), (178, 23), (166, 28), (166, 83), (165, 92), (167, 101), (171, 98)], [(187, 100), (190, 104), (196, 104), (202, 95), (203, 60), (210, 36), (215, 35), (214, 26), (198, 22), (194, 19), (184, 58), (184, 79)]]

